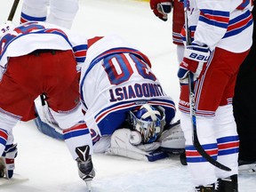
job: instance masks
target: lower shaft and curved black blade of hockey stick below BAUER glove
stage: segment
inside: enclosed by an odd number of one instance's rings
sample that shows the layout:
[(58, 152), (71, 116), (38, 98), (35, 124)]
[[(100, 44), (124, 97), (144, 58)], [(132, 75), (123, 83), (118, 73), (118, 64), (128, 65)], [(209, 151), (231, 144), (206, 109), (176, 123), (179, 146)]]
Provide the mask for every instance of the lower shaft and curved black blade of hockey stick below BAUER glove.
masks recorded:
[(230, 172), (231, 169), (224, 164), (220, 164), (220, 162), (214, 160), (212, 156), (209, 156), (204, 148), (201, 146), (196, 132), (196, 107), (195, 107), (195, 93), (194, 93), (194, 75), (192, 72), (188, 73), (188, 84), (189, 84), (189, 103), (190, 103), (190, 115), (193, 125), (193, 145), (196, 148), (197, 152), (203, 156), (210, 164), (218, 167), (221, 170)]

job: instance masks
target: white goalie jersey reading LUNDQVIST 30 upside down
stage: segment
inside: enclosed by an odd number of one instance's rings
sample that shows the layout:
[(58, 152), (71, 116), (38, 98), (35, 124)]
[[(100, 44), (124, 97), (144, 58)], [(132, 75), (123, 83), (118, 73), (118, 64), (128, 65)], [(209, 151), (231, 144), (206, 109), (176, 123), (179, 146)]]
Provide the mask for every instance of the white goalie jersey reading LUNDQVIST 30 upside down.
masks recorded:
[(175, 106), (150, 68), (148, 57), (119, 36), (106, 36), (88, 48), (81, 69), (84, 120), (102, 135), (112, 134), (127, 113), (143, 103), (162, 106), (166, 124)]

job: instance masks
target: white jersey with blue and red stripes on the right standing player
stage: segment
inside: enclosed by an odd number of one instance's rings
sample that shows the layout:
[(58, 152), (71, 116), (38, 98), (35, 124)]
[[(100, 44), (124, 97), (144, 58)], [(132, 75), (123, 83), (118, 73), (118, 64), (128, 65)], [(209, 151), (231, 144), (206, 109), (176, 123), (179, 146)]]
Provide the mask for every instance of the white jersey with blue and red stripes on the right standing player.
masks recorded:
[[(229, 52), (245, 52), (251, 45), (250, 0), (189, 0), (188, 26), (192, 43), (216, 46)], [(184, 35), (184, 34), (182, 34)]]

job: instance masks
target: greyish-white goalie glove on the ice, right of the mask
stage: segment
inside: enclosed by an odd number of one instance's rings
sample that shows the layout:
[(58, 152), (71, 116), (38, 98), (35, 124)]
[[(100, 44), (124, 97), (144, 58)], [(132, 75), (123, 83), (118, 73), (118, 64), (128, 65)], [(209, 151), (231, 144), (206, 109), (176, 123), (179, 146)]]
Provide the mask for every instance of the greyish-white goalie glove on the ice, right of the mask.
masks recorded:
[(185, 151), (185, 137), (180, 127), (180, 120), (171, 124), (171, 126), (165, 130), (159, 140), (161, 143), (161, 150), (169, 155), (180, 155)]

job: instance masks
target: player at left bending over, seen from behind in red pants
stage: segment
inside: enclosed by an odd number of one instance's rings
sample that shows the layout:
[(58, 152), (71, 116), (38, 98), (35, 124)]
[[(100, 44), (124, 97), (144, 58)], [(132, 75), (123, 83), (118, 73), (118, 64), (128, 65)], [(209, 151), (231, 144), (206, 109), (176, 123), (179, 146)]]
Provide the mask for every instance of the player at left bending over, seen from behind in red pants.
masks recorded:
[(34, 100), (44, 94), (77, 162), (79, 176), (85, 181), (92, 180), (92, 138), (84, 123), (76, 70), (85, 60), (86, 38), (66, 28), (36, 21), (16, 28), (4, 24), (1, 36), (1, 176), (11, 179), (13, 175), (17, 148), (12, 128), (20, 120), (36, 117)]

